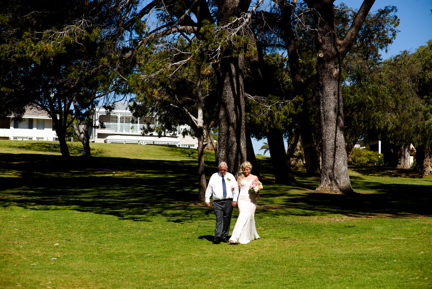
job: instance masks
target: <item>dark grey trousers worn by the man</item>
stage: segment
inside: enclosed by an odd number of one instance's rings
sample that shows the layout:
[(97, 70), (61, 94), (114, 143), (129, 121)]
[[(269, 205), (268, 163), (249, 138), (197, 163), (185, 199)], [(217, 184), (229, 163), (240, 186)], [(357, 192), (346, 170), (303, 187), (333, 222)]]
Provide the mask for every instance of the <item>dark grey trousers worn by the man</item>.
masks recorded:
[(228, 239), (231, 225), (232, 199), (213, 201), (213, 211), (216, 216), (215, 238)]

